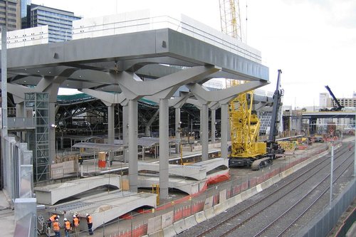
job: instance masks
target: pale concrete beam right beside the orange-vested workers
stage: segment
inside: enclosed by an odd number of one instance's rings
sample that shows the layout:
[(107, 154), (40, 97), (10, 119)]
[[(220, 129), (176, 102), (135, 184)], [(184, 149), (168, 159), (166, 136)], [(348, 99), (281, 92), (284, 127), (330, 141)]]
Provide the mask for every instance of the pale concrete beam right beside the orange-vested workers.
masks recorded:
[(64, 217), (72, 220), (73, 214), (77, 213), (80, 218), (80, 231), (86, 231), (88, 226), (86, 225), (85, 214), (93, 216), (93, 230), (95, 230), (103, 223), (108, 223), (142, 206), (156, 208), (156, 201), (156, 194), (112, 191), (106, 195), (88, 196), (70, 204), (53, 206), (53, 209), (56, 210), (56, 214), (61, 215), (61, 220)]

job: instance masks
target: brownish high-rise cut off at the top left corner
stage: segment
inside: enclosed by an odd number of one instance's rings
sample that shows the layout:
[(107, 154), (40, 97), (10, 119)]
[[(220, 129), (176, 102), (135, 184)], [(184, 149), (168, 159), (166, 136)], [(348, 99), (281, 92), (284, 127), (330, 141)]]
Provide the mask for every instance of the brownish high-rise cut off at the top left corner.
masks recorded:
[(7, 31), (21, 28), (19, 9), (17, 0), (0, 0), (0, 26), (6, 26)]

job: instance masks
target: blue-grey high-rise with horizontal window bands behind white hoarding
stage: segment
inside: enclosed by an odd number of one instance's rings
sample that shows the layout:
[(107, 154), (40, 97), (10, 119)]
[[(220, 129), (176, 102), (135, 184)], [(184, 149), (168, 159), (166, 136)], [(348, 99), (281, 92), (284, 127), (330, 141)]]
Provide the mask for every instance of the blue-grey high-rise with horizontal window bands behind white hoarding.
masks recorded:
[(31, 27), (48, 26), (48, 43), (70, 41), (73, 21), (79, 19), (70, 11), (31, 4)]

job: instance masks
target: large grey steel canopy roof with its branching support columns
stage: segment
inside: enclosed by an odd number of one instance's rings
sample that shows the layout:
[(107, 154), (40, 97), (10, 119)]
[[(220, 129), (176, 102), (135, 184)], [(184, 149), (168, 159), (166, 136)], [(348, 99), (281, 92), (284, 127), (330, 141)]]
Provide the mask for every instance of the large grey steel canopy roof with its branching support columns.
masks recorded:
[[(203, 156), (206, 159), (209, 139), (207, 108), (216, 108), (216, 102), (221, 105), (221, 116), (226, 116), (226, 122), (221, 122), (222, 135), (226, 135), (222, 137), (221, 145), (227, 147), (227, 102), (237, 93), (268, 83), (268, 68), (261, 63), (170, 28), (11, 48), (7, 56), (9, 93), (19, 99), (16, 99), (18, 103), (26, 91), (48, 93), (50, 103), (53, 103), (50, 106), (53, 124), (58, 87), (81, 89), (100, 98), (108, 106), (109, 121), (113, 121), (112, 106), (117, 103), (123, 106), (123, 136), (127, 145), (125, 153), (130, 166), (131, 191), (137, 190), (137, 100), (147, 96), (156, 98), (159, 101), (159, 163), (162, 166), (159, 186), (162, 199), (168, 196), (168, 172), (164, 171), (168, 169), (169, 98), (179, 87), (188, 85), (201, 104)], [(229, 88), (224, 92), (200, 88), (211, 78), (249, 82), (239, 85), (239, 89)], [(99, 93), (101, 91), (110, 93)], [(182, 104), (172, 106), (178, 109)], [(179, 119), (176, 127), (177, 122)], [(113, 122), (110, 124), (109, 143), (114, 137)], [(48, 165), (54, 157), (53, 136), (54, 132), (50, 135)], [(224, 150), (221, 149), (223, 154)]]

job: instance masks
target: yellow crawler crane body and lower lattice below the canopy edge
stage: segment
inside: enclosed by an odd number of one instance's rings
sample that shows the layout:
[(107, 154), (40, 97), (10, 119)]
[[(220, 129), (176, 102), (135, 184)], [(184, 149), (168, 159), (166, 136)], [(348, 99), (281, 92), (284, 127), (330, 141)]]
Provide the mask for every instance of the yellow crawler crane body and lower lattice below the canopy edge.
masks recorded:
[[(234, 81), (233, 85), (237, 85)], [(229, 167), (251, 166), (252, 169), (259, 169), (259, 160), (266, 155), (266, 142), (258, 142), (260, 130), (260, 120), (252, 112), (253, 91), (238, 95), (229, 103), (229, 117), (231, 128), (231, 158)], [(258, 162), (256, 162), (258, 161)], [(253, 164), (255, 162), (255, 164)]]

